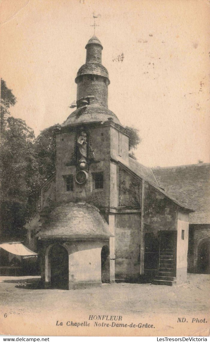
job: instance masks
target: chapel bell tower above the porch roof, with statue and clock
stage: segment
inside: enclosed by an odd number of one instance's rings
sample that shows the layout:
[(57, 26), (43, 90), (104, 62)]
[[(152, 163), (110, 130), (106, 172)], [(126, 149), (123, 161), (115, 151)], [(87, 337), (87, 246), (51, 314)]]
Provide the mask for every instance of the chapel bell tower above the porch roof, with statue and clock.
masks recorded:
[(95, 35), (89, 39), (86, 63), (79, 68), (75, 79), (77, 108), (57, 132), (58, 203), (84, 200), (108, 208), (116, 197), (116, 192), (110, 196), (110, 182), (116, 184), (113, 172), (110, 181), (110, 160), (128, 163), (128, 132), (108, 109), (110, 81), (102, 65), (102, 50)]

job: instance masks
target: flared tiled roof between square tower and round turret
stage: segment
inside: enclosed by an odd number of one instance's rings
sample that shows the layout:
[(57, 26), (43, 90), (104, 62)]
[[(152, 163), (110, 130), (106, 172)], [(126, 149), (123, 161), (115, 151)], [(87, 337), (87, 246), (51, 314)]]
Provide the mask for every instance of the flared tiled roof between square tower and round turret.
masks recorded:
[(115, 123), (120, 124), (117, 116), (108, 108), (96, 105), (84, 106), (73, 111), (64, 121), (62, 127), (78, 123), (107, 121), (109, 117), (112, 117)]

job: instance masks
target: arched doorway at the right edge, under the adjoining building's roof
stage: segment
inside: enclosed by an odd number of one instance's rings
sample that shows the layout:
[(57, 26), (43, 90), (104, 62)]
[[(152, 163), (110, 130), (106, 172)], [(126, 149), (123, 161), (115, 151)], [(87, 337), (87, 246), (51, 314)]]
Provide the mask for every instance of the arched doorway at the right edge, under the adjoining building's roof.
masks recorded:
[(204, 239), (198, 245), (197, 273), (210, 273), (210, 239)]

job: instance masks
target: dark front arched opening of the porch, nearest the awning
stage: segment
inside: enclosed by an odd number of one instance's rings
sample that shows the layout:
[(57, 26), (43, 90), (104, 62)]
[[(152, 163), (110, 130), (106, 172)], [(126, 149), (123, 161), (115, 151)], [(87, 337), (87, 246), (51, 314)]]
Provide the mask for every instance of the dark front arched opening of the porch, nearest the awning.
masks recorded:
[(61, 245), (54, 245), (50, 251), (51, 286), (68, 290), (68, 252)]

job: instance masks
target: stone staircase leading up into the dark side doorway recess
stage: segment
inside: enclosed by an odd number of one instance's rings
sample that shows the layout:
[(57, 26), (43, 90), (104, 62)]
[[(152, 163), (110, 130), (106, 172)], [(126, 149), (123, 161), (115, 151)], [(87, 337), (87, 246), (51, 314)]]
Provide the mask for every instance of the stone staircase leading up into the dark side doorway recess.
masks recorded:
[(171, 249), (164, 249), (160, 252), (158, 276), (152, 280), (155, 285), (172, 286), (176, 281), (174, 277), (174, 255)]

